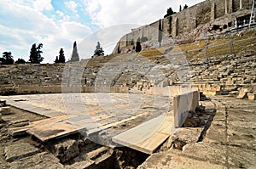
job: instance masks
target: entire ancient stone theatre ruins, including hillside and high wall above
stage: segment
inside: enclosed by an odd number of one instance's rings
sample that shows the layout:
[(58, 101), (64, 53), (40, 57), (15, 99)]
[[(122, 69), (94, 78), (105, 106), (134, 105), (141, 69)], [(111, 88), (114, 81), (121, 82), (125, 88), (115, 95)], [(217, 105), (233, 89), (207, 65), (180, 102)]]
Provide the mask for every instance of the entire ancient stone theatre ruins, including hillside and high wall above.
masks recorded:
[(157, 21), (122, 37), (122, 54), (0, 65), (0, 168), (254, 168), (252, 3), (160, 20), (161, 47)]

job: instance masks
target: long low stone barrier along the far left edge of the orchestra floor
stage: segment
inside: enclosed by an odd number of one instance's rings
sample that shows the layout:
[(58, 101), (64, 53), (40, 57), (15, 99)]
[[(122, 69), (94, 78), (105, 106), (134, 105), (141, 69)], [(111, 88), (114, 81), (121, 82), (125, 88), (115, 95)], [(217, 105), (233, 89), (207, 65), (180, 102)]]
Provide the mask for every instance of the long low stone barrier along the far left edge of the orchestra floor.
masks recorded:
[(129, 93), (129, 87), (4, 87), (1, 95), (35, 94), (35, 93)]

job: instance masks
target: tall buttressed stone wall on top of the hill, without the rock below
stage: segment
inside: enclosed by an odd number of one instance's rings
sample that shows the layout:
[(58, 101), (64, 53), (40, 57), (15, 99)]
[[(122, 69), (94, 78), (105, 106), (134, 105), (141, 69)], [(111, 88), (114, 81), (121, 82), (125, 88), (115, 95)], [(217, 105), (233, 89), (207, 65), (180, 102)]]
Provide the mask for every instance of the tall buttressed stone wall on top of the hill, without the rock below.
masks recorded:
[(165, 19), (132, 29), (131, 33), (126, 34), (120, 39), (113, 50), (113, 54), (117, 54), (118, 47), (125, 48), (136, 45), (138, 38), (157, 41), (160, 22), (164, 37), (176, 37), (184, 32), (194, 30), (199, 25), (204, 25), (218, 19), (225, 14), (234, 13), (241, 9), (250, 9), (252, 8), (252, 3), (253, 0), (206, 0), (195, 4)]

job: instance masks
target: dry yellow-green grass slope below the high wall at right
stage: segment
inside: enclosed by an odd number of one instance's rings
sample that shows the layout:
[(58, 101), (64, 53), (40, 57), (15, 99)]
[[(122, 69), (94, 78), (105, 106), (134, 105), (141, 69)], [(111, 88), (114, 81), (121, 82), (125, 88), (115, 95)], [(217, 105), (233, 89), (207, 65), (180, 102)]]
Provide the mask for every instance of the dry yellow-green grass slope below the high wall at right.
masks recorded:
[[(256, 50), (256, 31), (245, 31), (242, 37), (238, 33), (230, 35), (220, 35), (212, 40), (200, 40), (198, 42), (189, 42), (180, 44), (172, 49), (172, 53), (183, 52), (187, 58), (210, 58), (226, 54), (239, 54), (243, 50)], [(230, 43), (231, 42), (231, 43)], [(206, 48), (207, 45), (207, 48)]]

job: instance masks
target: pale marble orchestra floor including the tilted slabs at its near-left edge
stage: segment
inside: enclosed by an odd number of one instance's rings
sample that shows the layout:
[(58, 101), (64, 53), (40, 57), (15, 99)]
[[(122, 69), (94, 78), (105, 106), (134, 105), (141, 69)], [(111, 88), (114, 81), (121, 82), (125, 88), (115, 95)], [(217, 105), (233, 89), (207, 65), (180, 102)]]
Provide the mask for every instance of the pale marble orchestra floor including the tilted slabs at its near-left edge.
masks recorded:
[[(113, 136), (159, 115), (167, 115), (172, 110), (172, 100), (169, 97), (131, 93), (35, 94), (8, 96), (3, 99), (22, 110), (58, 119), (48, 121), (47, 126), (41, 125), (28, 130), (41, 141), (84, 129), (84, 134), (90, 136), (111, 127), (113, 130), (108, 132), (112, 132)], [(133, 124), (122, 130), (114, 128), (127, 121), (132, 121)]]

